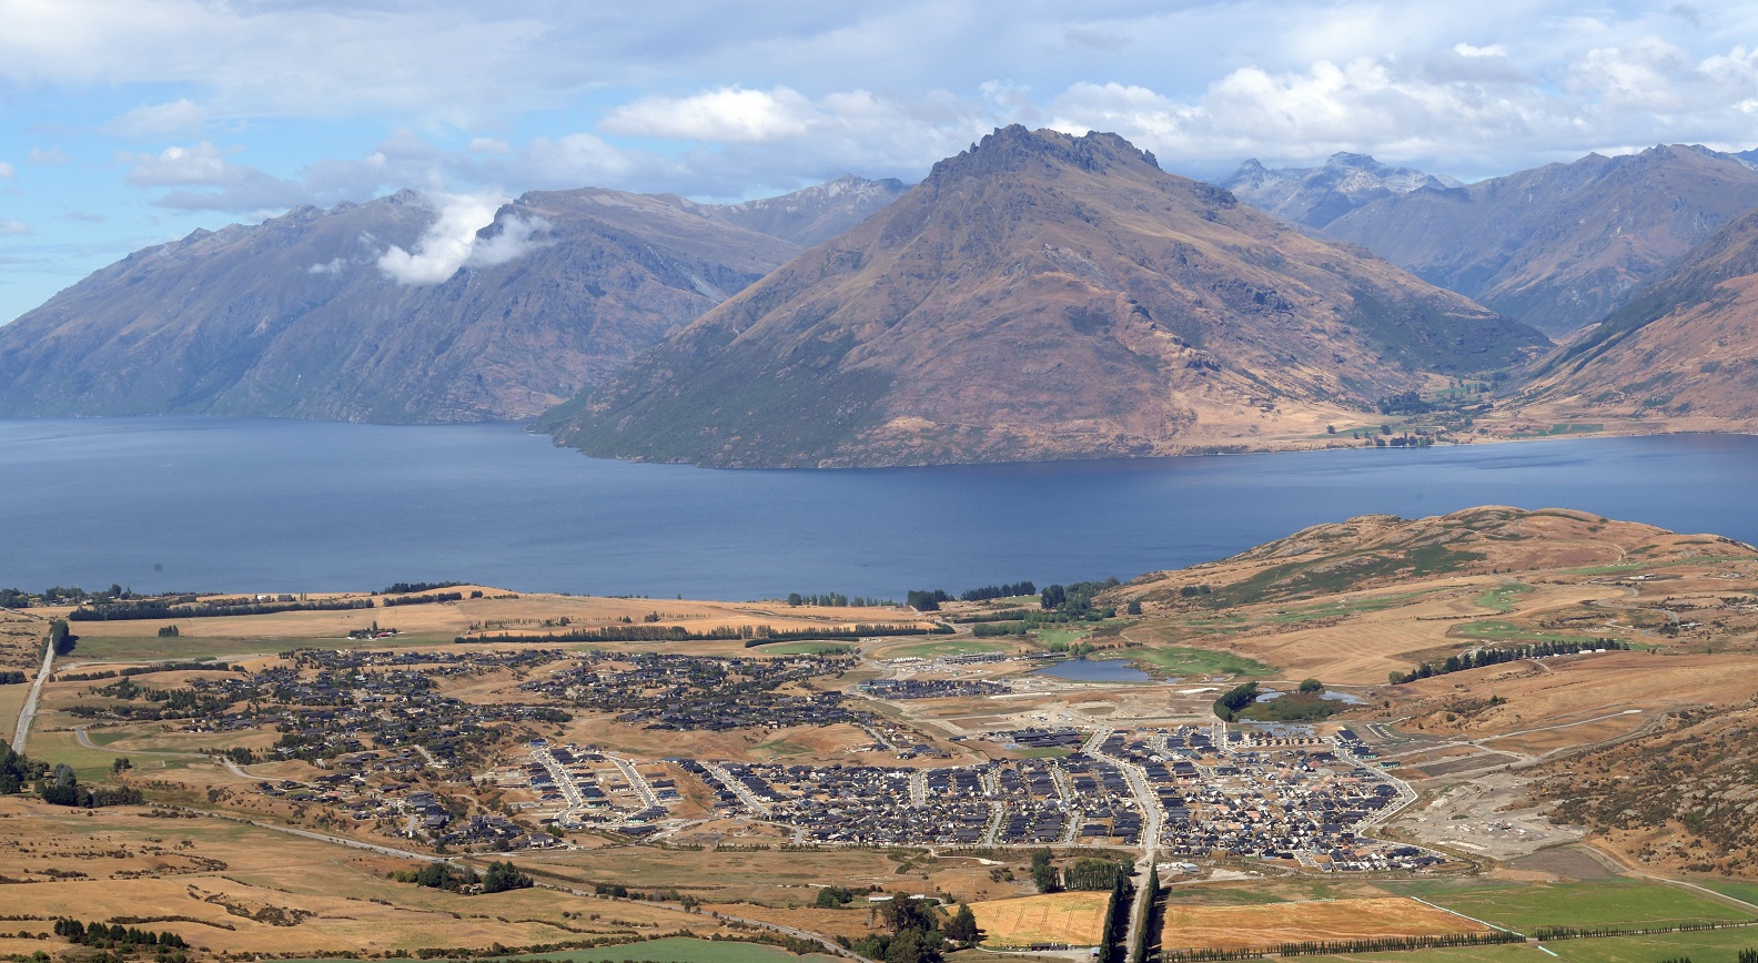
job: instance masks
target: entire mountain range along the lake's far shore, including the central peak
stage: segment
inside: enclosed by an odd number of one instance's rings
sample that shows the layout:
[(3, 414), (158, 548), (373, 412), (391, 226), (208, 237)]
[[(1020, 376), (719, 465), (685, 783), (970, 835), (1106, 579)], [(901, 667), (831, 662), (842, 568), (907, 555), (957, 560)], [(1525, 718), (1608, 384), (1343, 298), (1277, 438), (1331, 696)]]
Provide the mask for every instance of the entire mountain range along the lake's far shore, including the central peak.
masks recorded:
[(1754, 156), (1213, 186), (1011, 127), (914, 188), (533, 192), (473, 235), (397, 192), (91, 274), (0, 327), (0, 416), (541, 415), (599, 455), (921, 464), (1326, 445), (1494, 373), (1489, 436), (1747, 429)]

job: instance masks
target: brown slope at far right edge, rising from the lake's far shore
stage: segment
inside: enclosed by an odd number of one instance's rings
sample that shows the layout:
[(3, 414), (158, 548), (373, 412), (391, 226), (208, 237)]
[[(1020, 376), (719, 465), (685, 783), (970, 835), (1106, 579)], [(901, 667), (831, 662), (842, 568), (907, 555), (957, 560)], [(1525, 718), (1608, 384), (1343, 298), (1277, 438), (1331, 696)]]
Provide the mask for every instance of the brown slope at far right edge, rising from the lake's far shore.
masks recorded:
[(1510, 418), (1758, 427), (1758, 211), (1545, 364)]

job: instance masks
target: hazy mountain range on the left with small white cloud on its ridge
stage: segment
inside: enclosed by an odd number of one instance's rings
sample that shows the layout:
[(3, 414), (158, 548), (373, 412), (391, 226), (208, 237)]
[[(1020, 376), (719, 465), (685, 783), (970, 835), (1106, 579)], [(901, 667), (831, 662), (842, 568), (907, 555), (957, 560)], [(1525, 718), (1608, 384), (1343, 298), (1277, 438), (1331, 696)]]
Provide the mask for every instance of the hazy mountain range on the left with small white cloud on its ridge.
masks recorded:
[(735, 206), (536, 192), (432, 283), (385, 267), (443, 216), (415, 192), (197, 230), (0, 327), (0, 415), (529, 418), (902, 190), (842, 177)]

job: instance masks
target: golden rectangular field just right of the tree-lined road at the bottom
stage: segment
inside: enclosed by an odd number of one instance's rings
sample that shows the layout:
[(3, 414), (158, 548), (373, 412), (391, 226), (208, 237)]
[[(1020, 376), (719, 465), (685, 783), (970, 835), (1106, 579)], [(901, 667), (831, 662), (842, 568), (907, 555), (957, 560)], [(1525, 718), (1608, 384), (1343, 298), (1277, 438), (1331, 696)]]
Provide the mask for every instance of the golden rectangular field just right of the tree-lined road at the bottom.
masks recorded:
[(1487, 926), (1415, 900), (1324, 900), (1260, 907), (1169, 907), (1166, 949), (1269, 947), (1283, 942), (1482, 933)]

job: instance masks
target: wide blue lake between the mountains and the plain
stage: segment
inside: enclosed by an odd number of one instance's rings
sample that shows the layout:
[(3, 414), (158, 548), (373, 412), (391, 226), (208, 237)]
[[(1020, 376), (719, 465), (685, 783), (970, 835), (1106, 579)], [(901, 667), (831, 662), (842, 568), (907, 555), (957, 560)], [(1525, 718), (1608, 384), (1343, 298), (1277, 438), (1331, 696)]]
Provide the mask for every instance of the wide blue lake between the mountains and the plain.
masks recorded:
[(517, 425), (0, 420), (0, 585), (902, 597), (1218, 559), (1317, 522), (1579, 508), (1758, 541), (1758, 438), (874, 471), (585, 459)]

